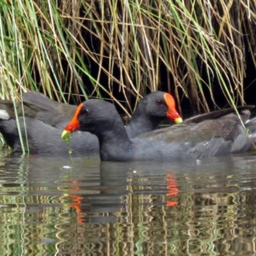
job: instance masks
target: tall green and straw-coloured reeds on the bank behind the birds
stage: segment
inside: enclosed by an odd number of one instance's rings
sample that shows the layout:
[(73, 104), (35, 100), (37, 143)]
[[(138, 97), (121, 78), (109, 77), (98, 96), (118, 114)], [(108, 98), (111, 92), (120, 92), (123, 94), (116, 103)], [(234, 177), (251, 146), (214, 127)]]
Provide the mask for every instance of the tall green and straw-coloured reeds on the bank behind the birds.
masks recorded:
[(3, 99), (27, 90), (74, 104), (102, 97), (129, 115), (145, 94), (164, 90), (179, 108), (186, 102), (209, 111), (223, 102), (244, 104), (246, 75), (246, 85), (255, 84), (256, 1), (0, 5)]

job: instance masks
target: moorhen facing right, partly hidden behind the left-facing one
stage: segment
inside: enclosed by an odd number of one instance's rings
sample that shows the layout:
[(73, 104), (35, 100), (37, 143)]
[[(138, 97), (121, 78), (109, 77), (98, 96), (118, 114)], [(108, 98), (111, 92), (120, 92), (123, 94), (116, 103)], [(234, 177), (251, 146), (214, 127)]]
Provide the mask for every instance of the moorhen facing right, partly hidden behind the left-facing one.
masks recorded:
[[(63, 154), (67, 153), (68, 148), (81, 154), (99, 152), (97, 137), (89, 132), (76, 132), (71, 145), (61, 140), (61, 132), (74, 115), (76, 106), (55, 102), (37, 92), (24, 93), (22, 99), (25, 123), (21, 102), (16, 102), (16, 108), (20, 134), (23, 141), (26, 141), (27, 136), (30, 153)], [(156, 129), (167, 117), (173, 122), (182, 122), (172, 95), (164, 92), (148, 94), (141, 99), (127, 125), (129, 138)], [(0, 100), (0, 132), (15, 152), (22, 150), (12, 100)]]

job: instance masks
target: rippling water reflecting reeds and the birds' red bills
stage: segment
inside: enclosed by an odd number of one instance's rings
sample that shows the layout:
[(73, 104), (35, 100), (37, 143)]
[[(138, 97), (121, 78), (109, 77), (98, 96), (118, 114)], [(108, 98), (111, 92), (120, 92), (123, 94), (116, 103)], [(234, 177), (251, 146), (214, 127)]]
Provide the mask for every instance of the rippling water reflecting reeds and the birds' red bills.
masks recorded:
[(0, 156), (0, 255), (256, 255), (255, 153), (186, 163)]

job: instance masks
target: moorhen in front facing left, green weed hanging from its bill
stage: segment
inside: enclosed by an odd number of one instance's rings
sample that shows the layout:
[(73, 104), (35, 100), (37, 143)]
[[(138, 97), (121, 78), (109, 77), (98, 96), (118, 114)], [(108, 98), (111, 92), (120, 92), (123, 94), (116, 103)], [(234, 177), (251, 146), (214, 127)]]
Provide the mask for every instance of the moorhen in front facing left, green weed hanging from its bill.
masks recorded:
[[(256, 120), (248, 121), (250, 111), (246, 108), (252, 107), (239, 108), (241, 118), (247, 122), (246, 126), (254, 129)], [(246, 134), (236, 113), (222, 115), (225, 112), (228, 111), (224, 109), (222, 112), (191, 118), (181, 124), (129, 140), (115, 106), (103, 100), (92, 99), (77, 107), (74, 118), (62, 133), (62, 138), (77, 130), (92, 132), (99, 139), (102, 161), (171, 161), (250, 150), (254, 141), (250, 134), (255, 131), (248, 131), (249, 135)], [(215, 119), (211, 119), (212, 116)], [(220, 117), (216, 118), (217, 116)]]

